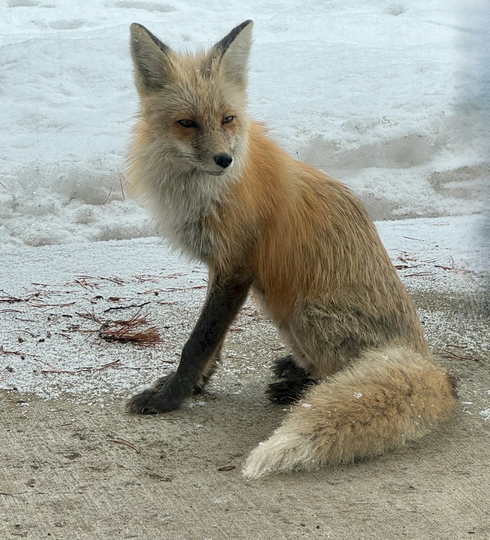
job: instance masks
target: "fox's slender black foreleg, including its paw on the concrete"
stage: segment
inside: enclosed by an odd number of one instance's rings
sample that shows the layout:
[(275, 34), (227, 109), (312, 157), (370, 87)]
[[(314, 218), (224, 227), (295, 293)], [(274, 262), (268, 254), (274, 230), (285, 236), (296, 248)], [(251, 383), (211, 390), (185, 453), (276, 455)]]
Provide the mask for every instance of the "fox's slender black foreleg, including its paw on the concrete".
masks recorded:
[(198, 322), (182, 349), (179, 367), (156, 381), (153, 388), (134, 395), (126, 404), (127, 411), (152, 414), (178, 409), (201, 386), (209, 372), (209, 362), (215, 362), (216, 350), (246, 300), (252, 281), (253, 278), (239, 276), (214, 276)]

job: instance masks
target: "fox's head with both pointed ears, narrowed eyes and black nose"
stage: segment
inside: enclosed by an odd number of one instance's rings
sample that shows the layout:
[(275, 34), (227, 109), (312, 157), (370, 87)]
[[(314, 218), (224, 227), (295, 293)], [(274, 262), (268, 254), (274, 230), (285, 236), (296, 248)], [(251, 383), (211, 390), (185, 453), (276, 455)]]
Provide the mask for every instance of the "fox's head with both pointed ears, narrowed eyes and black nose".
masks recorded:
[(252, 26), (245, 21), (209, 51), (181, 55), (144, 26), (131, 25), (142, 117), (176, 171), (220, 176), (243, 151)]

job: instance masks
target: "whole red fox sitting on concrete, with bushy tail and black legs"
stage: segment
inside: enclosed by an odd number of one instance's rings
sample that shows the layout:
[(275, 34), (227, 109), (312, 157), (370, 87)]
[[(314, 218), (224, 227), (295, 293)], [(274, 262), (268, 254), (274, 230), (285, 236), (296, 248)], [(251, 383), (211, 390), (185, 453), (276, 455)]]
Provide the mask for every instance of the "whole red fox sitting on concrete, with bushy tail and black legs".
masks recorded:
[(141, 119), (128, 180), (209, 282), (179, 367), (127, 410), (165, 413), (199, 392), (251, 289), (291, 348), (270, 397), (296, 402), (247, 458), (244, 475), (258, 478), (394, 449), (448, 419), (458, 399), (363, 204), (247, 116), (252, 25), (198, 55), (131, 25)]

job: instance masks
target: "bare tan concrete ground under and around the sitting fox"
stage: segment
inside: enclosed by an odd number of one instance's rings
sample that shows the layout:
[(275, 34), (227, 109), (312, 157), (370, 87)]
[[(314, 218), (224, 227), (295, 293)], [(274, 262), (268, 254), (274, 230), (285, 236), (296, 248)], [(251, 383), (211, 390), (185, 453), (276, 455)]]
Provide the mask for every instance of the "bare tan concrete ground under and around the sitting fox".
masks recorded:
[[(407, 285), (434, 350), (451, 351), (441, 363), (460, 377), (461, 408), (439, 431), (369, 462), (244, 480), (247, 454), (287, 414), (264, 396), (274, 330), (248, 307), (225, 365), (181, 410), (124, 413), (153, 372), (142, 381), (127, 371), (127, 390), (92, 403), (3, 390), (0, 538), (490, 539), (488, 291), (469, 275), (443, 292), (421, 282)], [(167, 320), (175, 306), (163, 307)], [(197, 314), (189, 309), (172, 346)]]

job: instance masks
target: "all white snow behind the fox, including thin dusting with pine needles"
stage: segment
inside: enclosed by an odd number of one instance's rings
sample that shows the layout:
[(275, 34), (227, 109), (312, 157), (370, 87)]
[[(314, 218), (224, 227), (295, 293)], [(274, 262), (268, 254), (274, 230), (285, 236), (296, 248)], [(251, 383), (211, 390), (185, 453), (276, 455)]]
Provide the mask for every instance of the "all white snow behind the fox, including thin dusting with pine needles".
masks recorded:
[[(163, 339), (170, 333), (181, 346), (193, 320), (186, 309), (202, 301), (203, 289), (192, 287), (205, 285), (204, 269), (164, 246), (124, 183), (138, 110), (132, 22), (195, 50), (253, 18), (251, 115), (293, 156), (358, 193), (393, 261), (416, 253), (462, 275), (488, 268), (489, 16), (485, 2), (457, 0), (3, 2), (0, 296), (39, 294), (0, 303), (4, 349), (37, 355), (0, 353), (0, 388), (82, 401), (126, 395), (134, 382), (125, 369), (94, 369), (123, 354), (128, 371), (158, 366), (158, 352), (95, 346), (81, 332), (64, 338), (69, 319), (81, 324), (77, 313), (100, 315), (114, 307), (109, 298), (138, 304), (160, 289), (154, 302), (177, 304), (152, 315), (171, 325)], [(444, 286), (450, 273), (434, 264)], [(166, 359), (178, 353), (175, 345)], [(91, 377), (43, 375), (51, 368), (39, 359), (58, 370), (91, 367)], [(148, 371), (134, 377), (141, 387), (154, 378)]]

